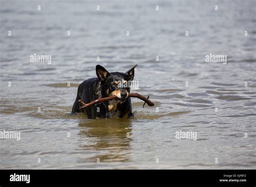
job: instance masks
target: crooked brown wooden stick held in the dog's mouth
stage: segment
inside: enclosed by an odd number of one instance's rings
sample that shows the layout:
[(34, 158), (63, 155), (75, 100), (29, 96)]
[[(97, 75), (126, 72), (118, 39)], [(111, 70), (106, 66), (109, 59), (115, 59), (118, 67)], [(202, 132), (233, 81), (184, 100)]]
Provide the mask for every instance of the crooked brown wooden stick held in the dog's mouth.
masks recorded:
[[(144, 97), (142, 95), (139, 95), (139, 93), (129, 93), (128, 97), (137, 97), (139, 99), (144, 100), (145, 103), (147, 103), (147, 105), (149, 106), (154, 106), (154, 103), (151, 102), (151, 100), (149, 100), (149, 97)], [(79, 103), (81, 103), (83, 106), (80, 107), (80, 109), (85, 109), (88, 106), (97, 104), (97, 103), (102, 103), (102, 102), (106, 102), (107, 100), (113, 100), (113, 99), (117, 99), (117, 96), (110, 96), (110, 97), (103, 97), (103, 98), (99, 98), (99, 99), (95, 99), (90, 103), (84, 103), (82, 100), (78, 100)], [(145, 105), (144, 103), (144, 105)], [(144, 107), (143, 105), (143, 107)]]

